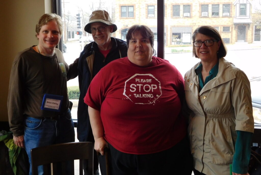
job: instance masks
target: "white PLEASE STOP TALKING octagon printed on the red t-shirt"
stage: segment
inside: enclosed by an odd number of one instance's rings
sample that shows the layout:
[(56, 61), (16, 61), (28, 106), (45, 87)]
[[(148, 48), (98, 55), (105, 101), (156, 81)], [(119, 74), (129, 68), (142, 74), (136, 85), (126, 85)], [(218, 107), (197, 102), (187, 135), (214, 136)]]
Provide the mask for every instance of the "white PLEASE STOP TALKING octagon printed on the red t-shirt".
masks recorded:
[(135, 74), (125, 81), (123, 95), (136, 104), (154, 103), (161, 95), (161, 83), (152, 74)]

